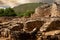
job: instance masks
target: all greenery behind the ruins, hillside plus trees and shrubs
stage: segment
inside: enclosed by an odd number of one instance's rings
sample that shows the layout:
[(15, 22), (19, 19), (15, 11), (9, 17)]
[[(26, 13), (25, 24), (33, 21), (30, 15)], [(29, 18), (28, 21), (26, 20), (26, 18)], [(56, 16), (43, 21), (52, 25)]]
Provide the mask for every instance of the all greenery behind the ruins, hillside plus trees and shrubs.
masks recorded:
[(28, 3), (16, 6), (14, 8), (0, 9), (1, 16), (18, 16), (30, 17), (34, 13), (35, 8), (43, 5), (43, 3)]

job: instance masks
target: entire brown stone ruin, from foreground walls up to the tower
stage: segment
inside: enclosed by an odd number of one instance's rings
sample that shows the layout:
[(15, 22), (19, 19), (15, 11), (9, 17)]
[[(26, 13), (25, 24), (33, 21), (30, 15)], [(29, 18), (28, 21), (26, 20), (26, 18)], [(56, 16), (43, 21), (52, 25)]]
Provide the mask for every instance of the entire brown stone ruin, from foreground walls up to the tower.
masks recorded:
[(0, 40), (60, 40), (60, 12), (57, 4), (36, 8), (30, 18), (0, 23)]

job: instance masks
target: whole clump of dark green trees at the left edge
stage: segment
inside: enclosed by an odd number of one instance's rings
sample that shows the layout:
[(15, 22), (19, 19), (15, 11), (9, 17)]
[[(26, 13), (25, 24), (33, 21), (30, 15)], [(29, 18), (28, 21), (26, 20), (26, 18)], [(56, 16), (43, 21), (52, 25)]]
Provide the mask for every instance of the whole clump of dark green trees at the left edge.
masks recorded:
[(16, 16), (12, 8), (0, 9), (0, 16)]

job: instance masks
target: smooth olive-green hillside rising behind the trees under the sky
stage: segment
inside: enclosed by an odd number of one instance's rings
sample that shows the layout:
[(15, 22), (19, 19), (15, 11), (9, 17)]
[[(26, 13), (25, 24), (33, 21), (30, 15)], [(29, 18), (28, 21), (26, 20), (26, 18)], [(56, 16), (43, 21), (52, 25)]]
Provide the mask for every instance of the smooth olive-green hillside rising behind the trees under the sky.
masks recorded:
[(27, 3), (14, 7), (15, 12), (21, 13), (27, 10), (34, 10), (36, 7), (41, 6), (43, 3)]

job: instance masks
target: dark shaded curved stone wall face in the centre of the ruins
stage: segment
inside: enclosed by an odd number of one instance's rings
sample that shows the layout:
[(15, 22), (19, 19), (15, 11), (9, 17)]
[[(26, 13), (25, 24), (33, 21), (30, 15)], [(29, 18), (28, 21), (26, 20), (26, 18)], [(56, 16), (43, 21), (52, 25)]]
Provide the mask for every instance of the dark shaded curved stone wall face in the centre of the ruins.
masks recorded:
[(40, 28), (44, 24), (44, 21), (31, 21), (26, 23), (28, 31), (32, 31), (34, 28)]

